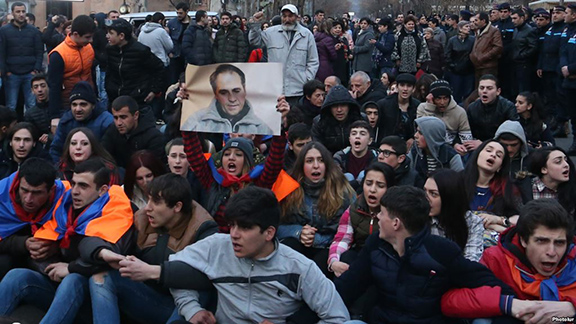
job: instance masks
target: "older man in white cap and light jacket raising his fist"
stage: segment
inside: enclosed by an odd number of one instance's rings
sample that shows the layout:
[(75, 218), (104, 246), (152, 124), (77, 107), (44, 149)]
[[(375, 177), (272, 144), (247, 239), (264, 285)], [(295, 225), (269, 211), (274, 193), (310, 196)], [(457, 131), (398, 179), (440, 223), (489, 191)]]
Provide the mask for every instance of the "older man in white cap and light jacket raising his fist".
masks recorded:
[(248, 38), (250, 45), (268, 49), (268, 62), (289, 63), (284, 65), (283, 92), (290, 105), (295, 105), (303, 94), (304, 83), (316, 76), (320, 62), (314, 35), (298, 23), (296, 6), (283, 6), (281, 16), (281, 25), (262, 31), (264, 13), (255, 13)]

